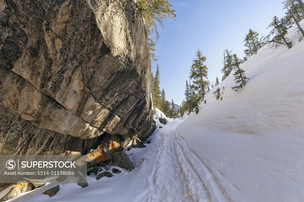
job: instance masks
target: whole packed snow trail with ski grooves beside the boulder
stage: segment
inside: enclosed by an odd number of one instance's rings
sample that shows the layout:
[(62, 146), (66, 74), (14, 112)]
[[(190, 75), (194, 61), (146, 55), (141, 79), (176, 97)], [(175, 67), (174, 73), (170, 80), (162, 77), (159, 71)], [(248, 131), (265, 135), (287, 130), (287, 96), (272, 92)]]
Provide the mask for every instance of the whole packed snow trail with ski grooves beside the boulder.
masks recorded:
[(176, 129), (180, 123), (177, 119), (168, 122), (174, 131), (164, 136), (144, 196), (133, 201), (230, 202), (225, 189), (216, 180), (216, 173), (213, 177), (210, 175), (210, 169), (178, 134)]

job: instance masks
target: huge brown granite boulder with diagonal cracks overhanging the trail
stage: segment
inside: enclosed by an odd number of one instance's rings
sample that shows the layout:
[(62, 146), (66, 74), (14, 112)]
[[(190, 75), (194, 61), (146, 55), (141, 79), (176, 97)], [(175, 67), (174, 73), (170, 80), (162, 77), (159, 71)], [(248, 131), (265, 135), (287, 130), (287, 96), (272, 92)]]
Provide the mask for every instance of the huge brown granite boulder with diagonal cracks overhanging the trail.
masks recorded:
[(150, 78), (133, 0), (0, 0), (0, 154), (147, 139)]

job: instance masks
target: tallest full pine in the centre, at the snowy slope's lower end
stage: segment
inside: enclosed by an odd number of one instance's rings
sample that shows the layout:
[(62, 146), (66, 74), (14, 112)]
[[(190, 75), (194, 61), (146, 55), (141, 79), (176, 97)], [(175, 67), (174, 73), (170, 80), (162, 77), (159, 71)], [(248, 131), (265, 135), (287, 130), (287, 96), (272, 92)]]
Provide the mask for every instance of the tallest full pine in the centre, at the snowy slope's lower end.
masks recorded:
[(204, 64), (206, 57), (202, 56), (202, 52), (197, 49), (195, 59), (191, 67), (190, 78), (194, 79), (193, 84), (195, 89), (199, 90), (200, 97), (203, 98), (206, 94), (204, 78), (208, 79), (208, 68)]

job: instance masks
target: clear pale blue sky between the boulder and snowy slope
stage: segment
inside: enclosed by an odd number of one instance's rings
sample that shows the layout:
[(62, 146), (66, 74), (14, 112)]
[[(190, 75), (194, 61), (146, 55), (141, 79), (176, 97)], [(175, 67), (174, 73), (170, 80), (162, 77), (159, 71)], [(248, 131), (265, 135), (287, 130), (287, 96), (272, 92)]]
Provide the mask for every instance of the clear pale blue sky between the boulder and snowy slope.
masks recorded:
[(160, 66), (160, 88), (166, 98), (180, 104), (184, 99), (185, 82), (199, 48), (207, 57), (210, 82), (215, 82), (223, 68), (223, 51), (243, 55), (244, 38), (249, 29), (268, 34), (272, 18), (284, 16), (282, 0), (171, 0), (176, 20), (164, 19), (155, 55)]

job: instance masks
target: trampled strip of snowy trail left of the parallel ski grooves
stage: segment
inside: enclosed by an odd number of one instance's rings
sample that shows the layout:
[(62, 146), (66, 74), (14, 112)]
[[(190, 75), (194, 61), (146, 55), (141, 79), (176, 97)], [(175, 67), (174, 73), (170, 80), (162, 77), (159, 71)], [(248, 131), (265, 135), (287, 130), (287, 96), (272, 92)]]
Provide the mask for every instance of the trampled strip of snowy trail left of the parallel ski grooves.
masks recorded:
[[(170, 130), (172, 130), (178, 124), (176, 122), (169, 122), (168, 125)], [(177, 163), (178, 155), (174, 147), (174, 136), (169, 133), (170, 131), (158, 141), (160, 147), (146, 189), (149, 191), (140, 200), (136, 197), (136, 200), (133, 201), (192, 201), (186, 199), (189, 192), (188, 184), (185, 183), (187, 176), (183, 173), (180, 164)]]

